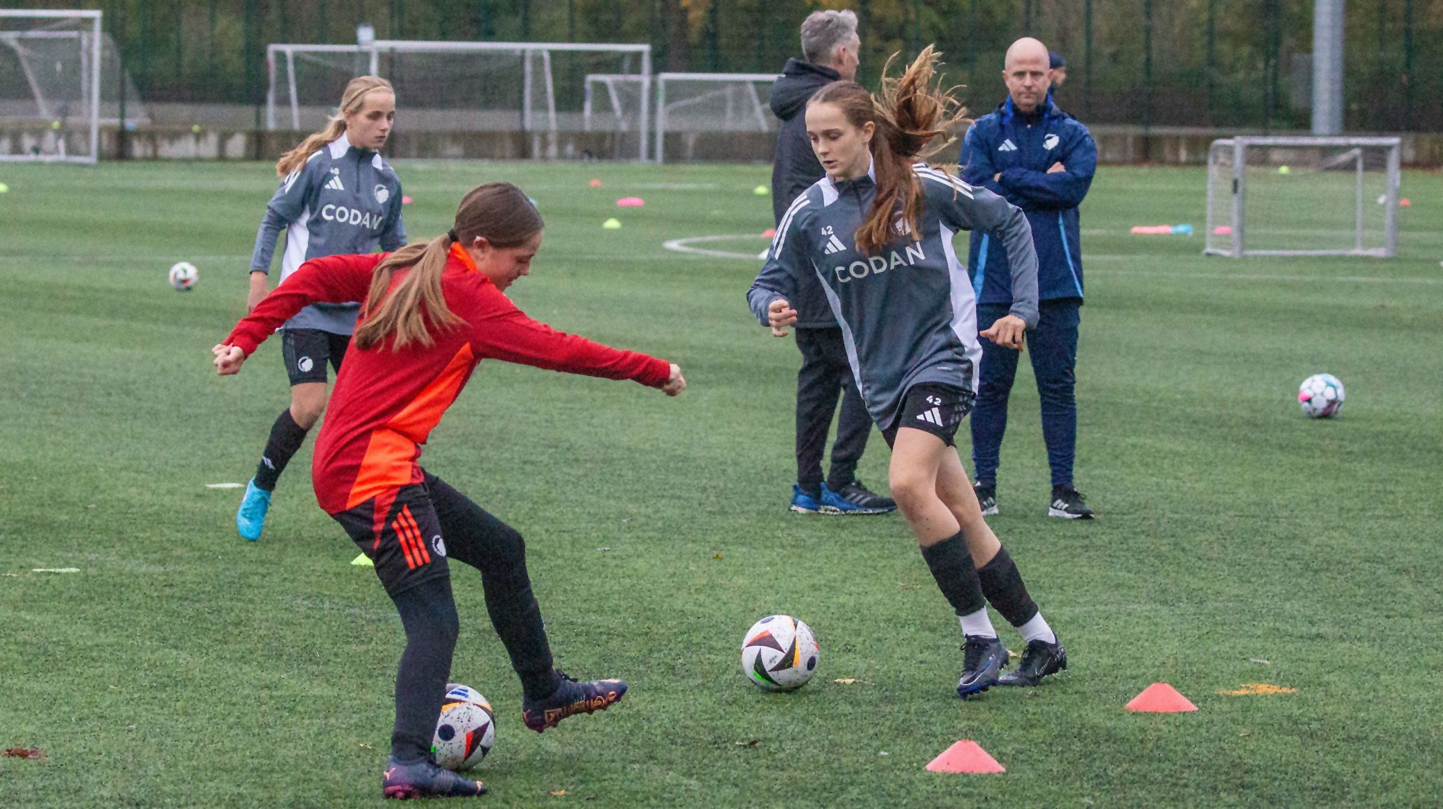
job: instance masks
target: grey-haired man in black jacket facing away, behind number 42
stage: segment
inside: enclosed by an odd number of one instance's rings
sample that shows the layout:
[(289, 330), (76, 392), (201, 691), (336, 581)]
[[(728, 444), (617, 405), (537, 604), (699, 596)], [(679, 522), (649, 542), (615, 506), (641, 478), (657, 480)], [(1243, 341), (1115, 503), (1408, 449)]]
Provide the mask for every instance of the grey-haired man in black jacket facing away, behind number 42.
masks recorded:
[[(807, 137), (807, 100), (834, 81), (853, 81), (861, 46), (853, 12), (812, 12), (801, 33), (804, 58), (788, 59), (781, 78), (772, 85), (772, 112), (782, 121), (772, 164), (772, 215), (778, 225), (792, 200), (824, 174)], [(797, 372), (797, 485), (792, 486), (791, 510), (889, 512), (896, 503), (867, 490), (856, 476), (872, 418), (857, 392), (841, 327), (831, 314), (821, 284), (807, 280), (797, 290), (792, 306), (798, 311), (795, 329), (802, 368)], [(821, 459), (838, 394), (841, 415), (837, 441), (831, 446), (831, 472), (824, 480)]]

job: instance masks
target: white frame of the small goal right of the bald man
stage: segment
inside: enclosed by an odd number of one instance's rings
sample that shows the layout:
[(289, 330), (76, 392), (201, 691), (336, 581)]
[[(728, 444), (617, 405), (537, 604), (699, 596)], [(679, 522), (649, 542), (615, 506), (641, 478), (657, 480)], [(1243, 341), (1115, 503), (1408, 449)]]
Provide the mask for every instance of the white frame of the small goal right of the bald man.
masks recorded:
[[(1231, 258), (1242, 258), (1245, 255), (1371, 255), (1380, 258), (1391, 258), (1397, 255), (1398, 251), (1398, 177), (1400, 177), (1400, 146), (1401, 138), (1397, 137), (1253, 137), (1240, 136), (1232, 138), (1215, 140), (1208, 147), (1208, 224), (1203, 235), (1206, 236), (1208, 247), (1203, 248), (1203, 254), (1212, 255), (1227, 255)], [(1355, 232), (1354, 232), (1354, 247), (1341, 249), (1253, 249), (1247, 244), (1247, 196), (1248, 196), (1248, 179), (1247, 179), (1247, 153), (1253, 147), (1341, 147), (1341, 149), (1355, 149), (1358, 150), (1355, 156), (1356, 162), (1356, 195), (1354, 199), (1355, 206)], [(1365, 247), (1364, 245), (1364, 209), (1367, 199), (1364, 199), (1364, 163), (1362, 163), (1362, 147), (1381, 147), (1387, 149), (1387, 190), (1381, 200), (1384, 205), (1384, 244), (1382, 247)], [(1216, 187), (1224, 183), (1225, 179), (1218, 170), (1218, 157), (1221, 154), (1229, 154), (1232, 159), (1231, 172), (1231, 187)], [(1215, 221), (1214, 203), (1218, 202), (1221, 195), (1231, 195), (1231, 212), (1227, 222)], [(1224, 247), (1212, 247), (1214, 235), (1218, 234), (1218, 228), (1227, 226), (1228, 239)]]

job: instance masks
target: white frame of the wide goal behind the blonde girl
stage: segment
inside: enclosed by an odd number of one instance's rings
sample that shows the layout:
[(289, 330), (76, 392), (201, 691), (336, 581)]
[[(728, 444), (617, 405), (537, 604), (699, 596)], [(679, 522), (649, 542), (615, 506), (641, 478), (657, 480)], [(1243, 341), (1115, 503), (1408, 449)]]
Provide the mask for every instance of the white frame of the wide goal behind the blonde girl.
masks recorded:
[[(369, 74), (378, 75), (382, 53), (512, 53), (521, 58), (522, 65), (522, 108), (521, 125), (527, 131), (557, 131), (556, 91), (551, 76), (551, 53), (638, 53), (641, 55), (641, 72), (636, 76), (644, 87), (651, 84), (651, 45), (646, 43), (595, 43), (595, 42), (446, 42), (424, 39), (377, 39), (371, 45), (294, 45), (273, 43), (266, 48), (266, 65), (270, 72), (270, 89), (266, 92), (266, 125), (277, 128), (277, 110), (289, 108), (291, 128), (300, 128), (300, 105), (296, 98), (296, 55), (303, 53), (356, 53), (365, 56), (369, 63)], [(532, 61), (540, 58), (541, 69), (532, 66)], [(290, 95), (289, 104), (277, 102), (276, 92), (276, 61), (286, 61), (286, 75), (290, 79), (286, 91)], [(538, 75), (540, 74), (540, 75)], [(544, 82), (547, 88), (545, 110), (534, 110), (531, 91), (534, 82)], [(442, 88), (437, 88), (440, 91)], [(648, 110), (646, 92), (641, 97), (641, 149), (638, 159), (645, 160), (649, 144), (646, 143)], [(404, 104), (405, 100), (401, 100)]]

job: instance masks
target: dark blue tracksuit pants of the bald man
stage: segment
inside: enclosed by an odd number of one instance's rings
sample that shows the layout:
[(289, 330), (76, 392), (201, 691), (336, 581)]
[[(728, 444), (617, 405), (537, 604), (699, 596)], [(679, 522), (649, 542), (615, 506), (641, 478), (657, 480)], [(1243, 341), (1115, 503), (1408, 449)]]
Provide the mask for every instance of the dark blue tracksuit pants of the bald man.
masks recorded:
[[(1078, 299), (1045, 300), (1038, 306), (1038, 327), (1027, 333), (1027, 356), (1042, 399), (1042, 438), (1048, 444), (1052, 485), (1072, 483), (1076, 454), (1078, 407), (1072, 397), (1076, 384), (1078, 323), (1082, 301)], [(977, 306), (977, 329), (984, 330), (1007, 314), (1007, 304)], [(1007, 395), (1017, 375), (1017, 353), (981, 337), (983, 366), (977, 405), (973, 408), (973, 464), (977, 482), (997, 483), (1001, 436), (1007, 431)]]

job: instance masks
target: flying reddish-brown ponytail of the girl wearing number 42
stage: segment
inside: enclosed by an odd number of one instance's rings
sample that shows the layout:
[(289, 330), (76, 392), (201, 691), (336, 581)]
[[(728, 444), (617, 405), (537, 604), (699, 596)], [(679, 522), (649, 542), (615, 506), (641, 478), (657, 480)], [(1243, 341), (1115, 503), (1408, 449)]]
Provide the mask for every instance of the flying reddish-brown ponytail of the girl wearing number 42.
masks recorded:
[[(916, 213), (922, 208), (922, 189), (912, 173), (912, 163), (924, 153), (944, 149), (949, 140), (928, 144), (948, 134), (965, 120), (965, 110), (932, 78), (939, 65), (937, 50), (928, 45), (898, 78), (887, 78), (896, 53), (882, 69), (882, 94), (872, 95), (857, 82), (833, 82), (817, 91), (808, 104), (835, 104), (847, 123), (876, 127), (869, 149), (876, 174), (877, 196), (867, 218), (857, 228), (857, 249), (874, 254), (899, 231), (921, 238)], [(900, 208), (900, 218), (898, 209)]]

